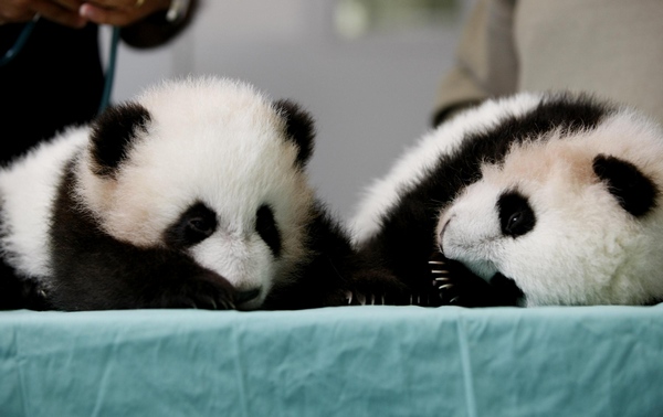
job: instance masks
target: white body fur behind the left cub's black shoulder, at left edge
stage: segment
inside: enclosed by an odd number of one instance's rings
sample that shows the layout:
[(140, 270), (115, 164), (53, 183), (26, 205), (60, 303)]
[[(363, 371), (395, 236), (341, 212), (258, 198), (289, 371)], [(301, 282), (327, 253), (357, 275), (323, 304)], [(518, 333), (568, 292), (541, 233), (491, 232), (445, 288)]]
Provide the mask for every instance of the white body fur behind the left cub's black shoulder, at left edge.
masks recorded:
[(9, 264), (33, 279), (43, 280), (50, 274), (48, 242), (52, 200), (66, 161), (83, 149), (86, 141), (85, 128), (65, 130), (0, 171), (0, 247)]

